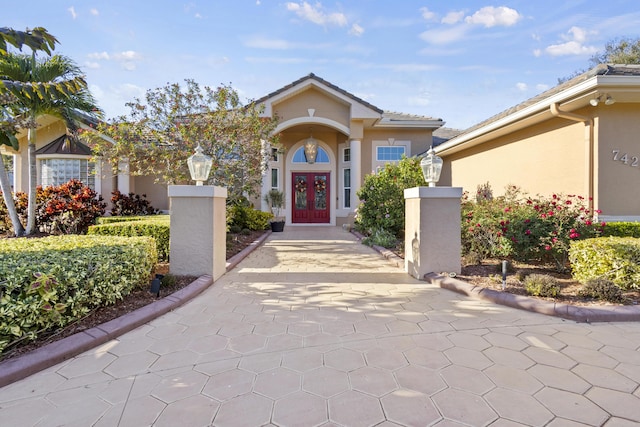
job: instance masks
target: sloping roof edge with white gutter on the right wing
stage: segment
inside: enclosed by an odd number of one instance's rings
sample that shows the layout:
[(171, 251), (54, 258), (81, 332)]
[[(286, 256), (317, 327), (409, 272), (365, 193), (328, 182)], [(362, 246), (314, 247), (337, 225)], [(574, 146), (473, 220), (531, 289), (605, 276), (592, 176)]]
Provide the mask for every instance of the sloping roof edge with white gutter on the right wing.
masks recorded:
[[(572, 108), (575, 109), (587, 105), (589, 99), (596, 94), (601, 95), (602, 92), (609, 92), (620, 84), (632, 83), (633, 86), (640, 86), (638, 77), (640, 77), (640, 65), (599, 64), (591, 70), (464, 130), (450, 141), (442, 144), (439, 150), (436, 149), (436, 152), (443, 154), (453, 153), (462, 144), (491, 132), (496, 132), (499, 129), (502, 129), (503, 133), (507, 133), (507, 129), (513, 127), (518, 121), (534, 117), (537, 117), (538, 121), (542, 121), (544, 117), (550, 118), (552, 116), (549, 108), (554, 103), (558, 105), (571, 104)], [(630, 78), (633, 82), (631, 82)]]

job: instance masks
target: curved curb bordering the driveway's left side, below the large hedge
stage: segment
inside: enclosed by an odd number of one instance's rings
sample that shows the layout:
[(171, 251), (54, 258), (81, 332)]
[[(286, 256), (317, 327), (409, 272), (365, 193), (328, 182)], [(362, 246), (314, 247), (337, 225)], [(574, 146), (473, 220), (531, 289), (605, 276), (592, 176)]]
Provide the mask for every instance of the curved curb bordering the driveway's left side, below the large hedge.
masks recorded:
[[(232, 270), (259, 247), (271, 232), (266, 232), (238, 254), (229, 258), (226, 270)], [(22, 356), (0, 362), (0, 388), (43, 369), (64, 362), (96, 346), (111, 341), (192, 300), (213, 284), (209, 275), (200, 276), (189, 285), (158, 301), (109, 322), (47, 344)]]

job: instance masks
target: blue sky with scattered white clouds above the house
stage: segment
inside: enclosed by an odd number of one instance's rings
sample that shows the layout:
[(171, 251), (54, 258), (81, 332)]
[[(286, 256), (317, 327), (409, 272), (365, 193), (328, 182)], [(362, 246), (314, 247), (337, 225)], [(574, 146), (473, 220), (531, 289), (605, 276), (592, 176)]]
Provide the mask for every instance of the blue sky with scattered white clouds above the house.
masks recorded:
[[(18, 3), (14, 3), (18, 4)], [(42, 26), (107, 118), (191, 78), (247, 102), (309, 73), (388, 111), (464, 129), (639, 37), (637, 0), (29, 0), (0, 26)]]

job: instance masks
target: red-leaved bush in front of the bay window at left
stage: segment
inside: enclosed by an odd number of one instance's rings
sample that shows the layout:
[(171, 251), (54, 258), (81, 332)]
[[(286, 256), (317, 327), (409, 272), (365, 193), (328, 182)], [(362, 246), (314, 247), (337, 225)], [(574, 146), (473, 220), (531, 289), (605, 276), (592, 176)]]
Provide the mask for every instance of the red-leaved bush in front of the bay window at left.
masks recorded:
[[(22, 221), (27, 216), (28, 196), (16, 193), (16, 210)], [(106, 205), (102, 196), (82, 182), (71, 180), (36, 190), (36, 224), (49, 234), (84, 234), (104, 215)]]

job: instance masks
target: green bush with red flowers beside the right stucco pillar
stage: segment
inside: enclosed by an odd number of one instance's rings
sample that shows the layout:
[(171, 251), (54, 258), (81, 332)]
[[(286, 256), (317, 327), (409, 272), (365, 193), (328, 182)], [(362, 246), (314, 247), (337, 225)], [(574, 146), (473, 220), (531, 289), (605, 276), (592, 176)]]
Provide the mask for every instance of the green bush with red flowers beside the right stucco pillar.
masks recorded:
[(605, 226), (583, 197), (522, 197), (516, 187), (493, 200), (465, 199), (461, 212), (463, 254), (554, 262), (559, 271), (571, 241), (600, 236)]

